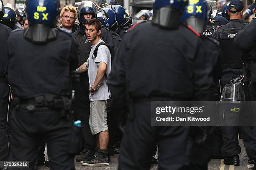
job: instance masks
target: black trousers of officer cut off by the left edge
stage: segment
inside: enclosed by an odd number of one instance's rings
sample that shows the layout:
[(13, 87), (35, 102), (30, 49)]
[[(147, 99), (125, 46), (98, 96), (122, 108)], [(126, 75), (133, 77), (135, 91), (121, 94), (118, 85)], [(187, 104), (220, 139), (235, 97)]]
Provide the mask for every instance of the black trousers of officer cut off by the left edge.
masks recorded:
[(9, 97), (8, 90), (6, 82), (0, 80), (0, 161), (8, 160), (9, 154), (6, 125)]

